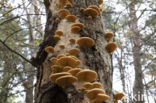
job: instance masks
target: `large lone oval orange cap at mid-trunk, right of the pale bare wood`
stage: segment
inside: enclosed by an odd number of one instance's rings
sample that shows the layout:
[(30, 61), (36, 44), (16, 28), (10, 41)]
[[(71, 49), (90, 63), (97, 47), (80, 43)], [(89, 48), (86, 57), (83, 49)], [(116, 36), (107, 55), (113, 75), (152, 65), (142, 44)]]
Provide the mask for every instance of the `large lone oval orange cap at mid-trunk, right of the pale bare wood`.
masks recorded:
[(84, 48), (90, 48), (95, 45), (95, 42), (92, 38), (89, 37), (81, 37), (80, 39), (77, 40), (77, 44), (80, 47)]

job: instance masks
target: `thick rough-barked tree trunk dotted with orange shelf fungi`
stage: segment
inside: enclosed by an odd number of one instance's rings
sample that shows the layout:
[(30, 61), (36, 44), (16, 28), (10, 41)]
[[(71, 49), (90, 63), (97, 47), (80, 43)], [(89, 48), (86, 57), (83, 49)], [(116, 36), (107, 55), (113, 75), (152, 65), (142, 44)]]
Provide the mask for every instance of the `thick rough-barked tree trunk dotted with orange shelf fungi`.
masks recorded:
[[(57, 9), (54, 9), (54, 1), (45, 0), (45, 7), (47, 13), (47, 24), (45, 29), (44, 41), (40, 45), (40, 50), (37, 57), (34, 59), (34, 65), (38, 67), (37, 83), (35, 90), (35, 103), (88, 103), (83, 101), (83, 94), (77, 92), (74, 88), (63, 89), (55, 84), (52, 84), (49, 80), (51, 74), (52, 63), (49, 61), (49, 55), (46, 54), (44, 48), (46, 46), (57, 47), (60, 44), (65, 45), (65, 49), (61, 52), (66, 53), (66, 50), (73, 48), (68, 43), (68, 37), (72, 37), (70, 34), (70, 24), (65, 20), (61, 20), (60, 23), (56, 23)], [(108, 103), (113, 102), (112, 93), (112, 67), (110, 55), (105, 50), (106, 40), (104, 38), (104, 25), (102, 24), (101, 16), (88, 20), (87, 16), (80, 12), (80, 8), (87, 8), (89, 5), (98, 5), (97, 0), (74, 0), (72, 8), (67, 8), (71, 14), (76, 15), (79, 18), (79, 22), (85, 25), (84, 30), (80, 32), (80, 35), (74, 35), (73, 38), (80, 38), (82, 36), (91, 37), (95, 41), (95, 46), (89, 49), (80, 48), (81, 53), (79, 59), (81, 60), (81, 68), (88, 68), (98, 73), (97, 81), (100, 81), (105, 89), (107, 95), (111, 100)], [(77, 21), (78, 22), (78, 21)], [(55, 43), (53, 36), (56, 30), (62, 30), (64, 35), (58, 43)], [(75, 46), (76, 47), (76, 46)], [(69, 98), (69, 94), (72, 95)]]

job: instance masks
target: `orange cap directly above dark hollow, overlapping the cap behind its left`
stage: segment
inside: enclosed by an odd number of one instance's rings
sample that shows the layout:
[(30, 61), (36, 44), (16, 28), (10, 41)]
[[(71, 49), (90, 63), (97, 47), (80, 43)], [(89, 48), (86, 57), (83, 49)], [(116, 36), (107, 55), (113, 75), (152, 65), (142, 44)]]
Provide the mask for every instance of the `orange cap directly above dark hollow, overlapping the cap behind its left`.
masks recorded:
[(77, 78), (72, 76), (72, 75), (66, 75), (66, 76), (61, 76), (56, 79), (56, 84), (59, 86), (68, 86), (71, 85), (72, 83), (76, 82)]

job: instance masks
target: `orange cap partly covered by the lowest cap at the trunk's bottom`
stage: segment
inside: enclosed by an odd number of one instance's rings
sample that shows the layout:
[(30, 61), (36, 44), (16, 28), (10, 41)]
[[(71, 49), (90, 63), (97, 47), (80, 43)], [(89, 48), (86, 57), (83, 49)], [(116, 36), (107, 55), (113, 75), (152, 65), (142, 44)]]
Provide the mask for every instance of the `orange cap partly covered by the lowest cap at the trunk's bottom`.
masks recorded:
[(96, 96), (101, 93), (101, 94), (104, 94), (105, 91), (103, 89), (99, 89), (99, 88), (94, 88), (94, 89), (91, 89), (91, 90), (88, 90), (87, 92), (87, 97), (90, 99), (90, 100), (93, 100), (96, 98)]

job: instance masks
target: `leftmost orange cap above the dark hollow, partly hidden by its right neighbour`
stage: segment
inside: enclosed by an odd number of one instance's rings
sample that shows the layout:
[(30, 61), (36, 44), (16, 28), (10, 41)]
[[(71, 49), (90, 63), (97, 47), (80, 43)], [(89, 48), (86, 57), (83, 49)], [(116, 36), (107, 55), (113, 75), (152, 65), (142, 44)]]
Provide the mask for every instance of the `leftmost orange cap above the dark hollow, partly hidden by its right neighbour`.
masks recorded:
[(51, 80), (52, 83), (55, 83), (58, 77), (65, 76), (65, 75), (71, 75), (71, 74), (68, 72), (55, 73), (55, 74), (51, 74), (49, 76), (49, 79)]

